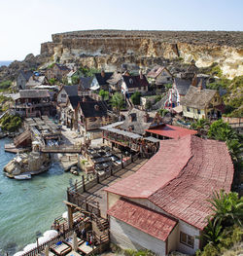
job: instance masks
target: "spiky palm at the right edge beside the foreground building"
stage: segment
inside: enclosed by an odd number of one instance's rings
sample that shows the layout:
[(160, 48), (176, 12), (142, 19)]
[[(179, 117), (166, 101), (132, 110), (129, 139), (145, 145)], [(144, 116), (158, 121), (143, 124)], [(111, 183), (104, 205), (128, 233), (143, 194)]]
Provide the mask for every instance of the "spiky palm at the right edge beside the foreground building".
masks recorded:
[(210, 208), (213, 211), (212, 216), (220, 221), (224, 227), (237, 224), (242, 226), (243, 221), (243, 198), (238, 198), (235, 192), (225, 193), (224, 190), (213, 193)]

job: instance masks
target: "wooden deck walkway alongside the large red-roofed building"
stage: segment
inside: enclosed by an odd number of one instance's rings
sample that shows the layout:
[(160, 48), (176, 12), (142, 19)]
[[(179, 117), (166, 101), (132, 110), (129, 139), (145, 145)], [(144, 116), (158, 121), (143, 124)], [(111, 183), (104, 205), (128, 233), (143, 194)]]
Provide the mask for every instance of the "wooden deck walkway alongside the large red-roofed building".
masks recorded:
[(144, 165), (148, 159), (138, 159), (134, 163), (127, 165), (122, 168), (118, 172), (116, 172), (113, 176), (103, 180), (101, 183), (96, 184), (94, 187), (90, 188), (87, 192), (83, 193), (84, 196), (87, 197), (87, 200), (98, 201), (101, 210), (101, 216), (106, 218), (106, 210), (107, 210), (107, 197), (106, 192), (103, 190), (106, 187), (111, 186), (117, 181), (130, 176), (132, 173), (136, 172), (142, 165)]

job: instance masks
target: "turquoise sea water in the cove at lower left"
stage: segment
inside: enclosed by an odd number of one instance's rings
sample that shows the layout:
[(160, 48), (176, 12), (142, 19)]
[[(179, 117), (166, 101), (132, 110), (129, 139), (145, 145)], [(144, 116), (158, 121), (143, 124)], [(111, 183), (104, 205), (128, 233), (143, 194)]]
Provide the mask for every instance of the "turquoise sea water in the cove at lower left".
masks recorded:
[(64, 172), (57, 163), (31, 180), (9, 179), (2, 171), (14, 154), (4, 152), (9, 139), (0, 139), (0, 255), (13, 255), (27, 243), (35, 242), (36, 233), (51, 228), (53, 219), (66, 210), (66, 188), (77, 176)]

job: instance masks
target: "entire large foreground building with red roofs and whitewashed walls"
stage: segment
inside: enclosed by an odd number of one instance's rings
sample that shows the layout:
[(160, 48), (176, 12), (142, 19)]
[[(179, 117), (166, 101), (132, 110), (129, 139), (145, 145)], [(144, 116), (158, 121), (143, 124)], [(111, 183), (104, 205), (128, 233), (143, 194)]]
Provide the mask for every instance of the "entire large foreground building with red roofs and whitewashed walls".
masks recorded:
[(207, 200), (230, 191), (233, 173), (225, 142), (193, 135), (160, 141), (145, 165), (105, 189), (111, 242), (161, 256), (194, 254), (212, 213)]

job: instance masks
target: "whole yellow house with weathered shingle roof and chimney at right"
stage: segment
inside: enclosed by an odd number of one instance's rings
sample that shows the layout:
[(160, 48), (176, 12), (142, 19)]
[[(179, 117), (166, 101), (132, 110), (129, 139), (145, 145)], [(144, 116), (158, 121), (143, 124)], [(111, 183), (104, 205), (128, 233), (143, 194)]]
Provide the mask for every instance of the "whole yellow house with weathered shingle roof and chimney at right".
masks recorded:
[(218, 91), (191, 86), (181, 100), (183, 116), (190, 119), (217, 119), (222, 117), (223, 101)]

